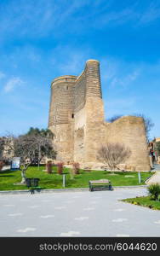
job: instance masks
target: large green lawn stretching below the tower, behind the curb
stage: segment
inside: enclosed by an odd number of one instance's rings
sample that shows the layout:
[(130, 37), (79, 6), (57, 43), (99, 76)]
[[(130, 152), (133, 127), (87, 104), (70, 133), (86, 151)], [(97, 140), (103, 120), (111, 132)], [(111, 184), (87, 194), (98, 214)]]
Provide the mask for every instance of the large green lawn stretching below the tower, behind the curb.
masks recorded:
[[(62, 175), (57, 174), (56, 167), (52, 174), (43, 172), (44, 166), (40, 166), (38, 171), (37, 166), (30, 166), (26, 171), (26, 177), (39, 177), (39, 186), (43, 189), (61, 189), (62, 188)], [(88, 188), (89, 180), (107, 178), (111, 180), (113, 186), (132, 186), (139, 185), (137, 172), (115, 172), (116, 175), (111, 175), (106, 171), (80, 171), (74, 179), (71, 179), (69, 170), (65, 168), (66, 173), (66, 188)], [(132, 177), (125, 177), (132, 176)], [(142, 182), (140, 185), (145, 184), (147, 177), (151, 176), (151, 172), (141, 172)], [(27, 189), (26, 185), (14, 185), (20, 183), (20, 171), (6, 171), (0, 172), (0, 191), (2, 190), (20, 190)]]

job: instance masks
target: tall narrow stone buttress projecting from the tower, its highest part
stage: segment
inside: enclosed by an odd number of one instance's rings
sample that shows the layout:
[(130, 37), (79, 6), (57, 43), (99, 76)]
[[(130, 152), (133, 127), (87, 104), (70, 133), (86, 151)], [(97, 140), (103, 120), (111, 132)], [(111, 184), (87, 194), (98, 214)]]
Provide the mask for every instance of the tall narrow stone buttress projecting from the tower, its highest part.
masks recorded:
[[(81, 92), (80, 97), (77, 91)], [(83, 73), (75, 84), (76, 98), (79, 100), (76, 101), (75, 108), (74, 160), (81, 162), (82, 166), (87, 163), (87, 166), (91, 167), (97, 161), (95, 152), (101, 138), (104, 138), (104, 133), (100, 133), (100, 125), (104, 122), (104, 108), (98, 61), (87, 61)]]

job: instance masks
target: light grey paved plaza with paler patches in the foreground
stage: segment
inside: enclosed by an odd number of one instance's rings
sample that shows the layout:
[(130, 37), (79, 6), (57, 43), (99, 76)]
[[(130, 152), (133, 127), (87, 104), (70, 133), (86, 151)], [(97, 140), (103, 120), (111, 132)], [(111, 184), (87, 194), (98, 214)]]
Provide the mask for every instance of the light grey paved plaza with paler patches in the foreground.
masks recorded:
[(160, 236), (160, 211), (119, 201), (146, 189), (0, 195), (0, 236)]

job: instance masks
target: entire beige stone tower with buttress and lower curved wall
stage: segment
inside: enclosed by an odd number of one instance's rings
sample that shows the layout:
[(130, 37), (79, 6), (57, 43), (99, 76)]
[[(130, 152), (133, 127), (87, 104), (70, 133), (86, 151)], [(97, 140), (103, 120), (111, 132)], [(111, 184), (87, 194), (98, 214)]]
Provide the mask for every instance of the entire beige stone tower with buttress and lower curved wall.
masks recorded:
[(102, 165), (97, 160), (100, 146), (107, 141), (122, 142), (133, 149), (128, 166), (149, 170), (143, 120), (123, 117), (117, 121), (105, 122), (99, 61), (87, 61), (78, 77), (66, 75), (52, 82), (49, 129), (55, 135), (57, 160), (66, 164), (77, 161), (83, 167), (96, 168)]

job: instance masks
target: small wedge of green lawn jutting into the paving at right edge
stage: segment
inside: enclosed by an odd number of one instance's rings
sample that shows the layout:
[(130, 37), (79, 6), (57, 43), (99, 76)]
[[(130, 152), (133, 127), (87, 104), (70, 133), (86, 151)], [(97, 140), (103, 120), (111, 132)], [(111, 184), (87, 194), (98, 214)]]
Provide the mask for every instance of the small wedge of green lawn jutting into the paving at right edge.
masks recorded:
[(129, 202), (134, 205), (138, 205), (141, 207), (149, 207), (153, 210), (160, 210), (160, 201), (151, 200), (150, 196), (141, 196), (136, 198), (128, 198), (123, 201)]

